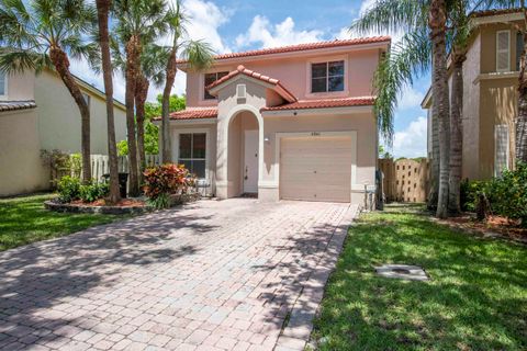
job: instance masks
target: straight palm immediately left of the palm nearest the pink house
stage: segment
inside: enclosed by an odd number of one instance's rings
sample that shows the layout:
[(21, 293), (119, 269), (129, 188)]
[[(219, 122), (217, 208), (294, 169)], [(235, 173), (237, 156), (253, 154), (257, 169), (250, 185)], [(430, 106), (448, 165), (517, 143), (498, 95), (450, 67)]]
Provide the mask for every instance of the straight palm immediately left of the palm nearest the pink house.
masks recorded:
[(128, 169), (131, 196), (139, 194), (137, 139), (135, 127), (135, 89), (139, 75), (139, 58), (145, 43), (153, 42), (164, 33), (166, 3), (164, 0), (116, 0), (114, 14), (117, 19), (116, 34), (124, 45), (125, 104), (128, 140)]

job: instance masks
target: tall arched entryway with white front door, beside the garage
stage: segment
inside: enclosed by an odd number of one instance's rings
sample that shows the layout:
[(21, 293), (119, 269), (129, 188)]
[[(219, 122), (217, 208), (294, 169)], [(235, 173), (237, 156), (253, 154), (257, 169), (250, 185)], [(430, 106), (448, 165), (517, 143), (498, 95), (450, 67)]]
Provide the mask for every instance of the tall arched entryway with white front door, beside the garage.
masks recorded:
[[(258, 194), (260, 173), (260, 121), (254, 112), (242, 110), (227, 126), (227, 184), (231, 196)], [(231, 197), (229, 196), (229, 197)]]

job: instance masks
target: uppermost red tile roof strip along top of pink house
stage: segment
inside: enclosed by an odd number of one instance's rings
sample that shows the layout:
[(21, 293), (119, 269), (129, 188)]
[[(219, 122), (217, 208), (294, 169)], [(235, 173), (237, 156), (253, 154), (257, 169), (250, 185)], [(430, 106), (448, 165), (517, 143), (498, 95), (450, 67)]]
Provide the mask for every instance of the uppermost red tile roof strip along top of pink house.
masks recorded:
[[(289, 46), (281, 46), (281, 47), (262, 48), (262, 49), (248, 50), (248, 52), (242, 52), (242, 53), (222, 54), (222, 55), (214, 56), (214, 59), (222, 60), (222, 59), (229, 59), (229, 58), (305, 52), (305, 50), (314, 50), (314, 49), (340, 47), (340, 46), (349, 46), (349, 45), (375, 44), (375, 43), (383, 43), (383, 42), (391, 42), (391, 37), (390, 36), (370, 36), (370, 37), (359, 37), (359, 38), (344, 39), (344, 41), (335, 39), (329, 42), (306, 43), (306, 44), (289, 45)], [(187, 60), (179, 60), (178, 63), (183, 64), (183, 63), (187, 63)]]

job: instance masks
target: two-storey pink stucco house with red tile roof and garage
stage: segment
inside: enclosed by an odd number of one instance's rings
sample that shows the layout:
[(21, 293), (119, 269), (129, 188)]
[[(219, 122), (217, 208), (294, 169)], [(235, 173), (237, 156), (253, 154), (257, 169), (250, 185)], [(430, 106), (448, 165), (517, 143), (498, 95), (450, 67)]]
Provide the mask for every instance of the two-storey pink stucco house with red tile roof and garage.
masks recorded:
[(372, 78), (390, 37), (218, 55), (187, 72), (175, 160), (220, 199), (361, 203), (378, 155)]

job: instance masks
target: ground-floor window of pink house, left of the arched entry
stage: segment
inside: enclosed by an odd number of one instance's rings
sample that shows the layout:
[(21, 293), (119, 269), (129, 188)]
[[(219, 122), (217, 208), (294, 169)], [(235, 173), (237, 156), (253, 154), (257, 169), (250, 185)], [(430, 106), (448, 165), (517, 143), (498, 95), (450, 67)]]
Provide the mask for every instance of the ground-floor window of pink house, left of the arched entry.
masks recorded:
[(206, 133), (179, 135), (179, 160), (198, 178), (205, 178)]

